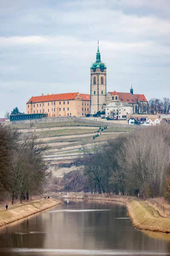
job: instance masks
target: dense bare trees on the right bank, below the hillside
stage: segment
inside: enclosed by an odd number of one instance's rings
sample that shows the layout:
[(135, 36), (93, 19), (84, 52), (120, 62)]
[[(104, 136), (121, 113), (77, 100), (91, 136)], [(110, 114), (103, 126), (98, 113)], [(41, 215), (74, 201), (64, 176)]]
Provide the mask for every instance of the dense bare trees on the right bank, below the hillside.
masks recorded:
[(91, 193), (170, 197), (170, 125), (139, 128), (96, 146), (83, 173)]

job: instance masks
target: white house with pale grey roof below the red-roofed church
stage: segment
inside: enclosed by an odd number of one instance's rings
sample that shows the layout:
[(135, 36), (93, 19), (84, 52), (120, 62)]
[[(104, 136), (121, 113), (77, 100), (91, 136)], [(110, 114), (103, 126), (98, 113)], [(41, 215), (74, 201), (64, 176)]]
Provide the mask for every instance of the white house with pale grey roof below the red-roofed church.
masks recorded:
[(111, 102), (105, 111), (108, 118), (126, 120), (127, 114), (133, 114), (133, 106), (127, 102)]

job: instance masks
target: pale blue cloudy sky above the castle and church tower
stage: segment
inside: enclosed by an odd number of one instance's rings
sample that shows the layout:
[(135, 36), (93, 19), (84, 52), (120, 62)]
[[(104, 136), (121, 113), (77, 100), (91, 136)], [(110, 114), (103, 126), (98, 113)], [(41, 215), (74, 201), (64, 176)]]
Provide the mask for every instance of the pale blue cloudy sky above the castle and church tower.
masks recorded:
[(107, 91), (170, 97), (170, 0), (0, 0), (0, 117), (90, 93), (98, 40)]

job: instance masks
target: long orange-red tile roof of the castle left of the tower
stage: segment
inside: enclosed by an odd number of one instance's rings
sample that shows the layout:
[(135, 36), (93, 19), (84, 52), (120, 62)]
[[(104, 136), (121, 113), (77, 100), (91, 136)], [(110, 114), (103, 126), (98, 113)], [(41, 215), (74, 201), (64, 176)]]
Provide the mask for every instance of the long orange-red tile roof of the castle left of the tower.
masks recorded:
[(36, 103), (36, 102), (48, 102), (55, 100), (69, 100), (75, 99), (77, 93), (60, 93), (60, 94), (51, 94), (51, 95), (42, 95), (42, 96), (32, 96), (27, 103)]

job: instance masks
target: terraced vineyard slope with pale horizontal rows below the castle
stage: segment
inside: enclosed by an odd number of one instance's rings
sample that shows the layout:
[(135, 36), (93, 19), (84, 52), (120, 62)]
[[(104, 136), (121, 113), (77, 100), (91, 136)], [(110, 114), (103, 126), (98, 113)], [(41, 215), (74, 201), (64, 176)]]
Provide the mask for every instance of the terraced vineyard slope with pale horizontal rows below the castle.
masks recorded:
[[(49, 169), (57, 171), (58, 163), (73, 163), (76, 158), (83, 157), (85, 154), (94, 154), (94, 146), (107, 143), (108, 140), (114, 139), (122, 134), (128, 133), (130, 127), (107, 127), (100, 133), (98, 125), (91, 125), (86, 122), (47, 122), (14, 125), (24, 134), (36, 134), (44, 143), (50, 146), (48, 153), (45, 155), (45, 161)], [(98, 134), (98, 136), (97, 136)], [(63, 172), (71, 171), (66, 168)], [(55, 173), (54, 172), (54, 173)]]

